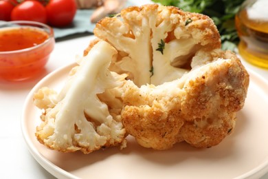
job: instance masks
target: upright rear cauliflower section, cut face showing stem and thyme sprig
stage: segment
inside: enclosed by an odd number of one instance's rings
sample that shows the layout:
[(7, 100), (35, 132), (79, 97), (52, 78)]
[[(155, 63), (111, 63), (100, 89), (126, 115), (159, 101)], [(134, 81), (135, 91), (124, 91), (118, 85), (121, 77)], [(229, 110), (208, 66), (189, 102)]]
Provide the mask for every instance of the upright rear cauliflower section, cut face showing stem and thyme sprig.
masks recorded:
[(104, 18), (94, 34), (120, 51), (111, 70), (129, 73), (138, 86), (180, 78), (198, 50), (221, 47), (212, 19), (157, 4), (129, 7), (120, 17)]

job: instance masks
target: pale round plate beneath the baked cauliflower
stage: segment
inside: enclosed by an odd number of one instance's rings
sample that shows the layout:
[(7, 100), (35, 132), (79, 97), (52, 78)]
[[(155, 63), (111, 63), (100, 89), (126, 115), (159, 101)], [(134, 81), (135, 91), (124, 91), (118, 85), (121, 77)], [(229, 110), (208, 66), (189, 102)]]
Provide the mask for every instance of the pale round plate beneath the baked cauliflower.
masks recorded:
[(41, 111), (34, 92), (43, 86), (60, 89), (72, 65), (41, 80), (27, 96), (22, 118), (23, 136), (32, 156), (57, 178), (259, 178), (268, 171), (268, 84), (250, 72), (245, 107), (237, 114), (234, 133), (220, 145), (195, 149), (179, 143), (167, 151), (145, 149), (129, 138), (117, 147), (82, 154), (62, 154), (38, 143), (34, 136)]

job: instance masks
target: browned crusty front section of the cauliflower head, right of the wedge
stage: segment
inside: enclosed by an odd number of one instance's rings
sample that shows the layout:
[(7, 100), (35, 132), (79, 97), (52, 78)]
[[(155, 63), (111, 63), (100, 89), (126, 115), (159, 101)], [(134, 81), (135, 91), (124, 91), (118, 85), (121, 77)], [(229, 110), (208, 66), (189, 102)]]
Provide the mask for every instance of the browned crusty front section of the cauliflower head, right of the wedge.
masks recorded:
[(175, 81), (141, 87), (126, 82), (122, 123), (140, 145), (162, 150), (185, 140), (194, 147), (212, 147), (231, 133), (249, 76), (232, 52), (203, 55), (210, 63)]

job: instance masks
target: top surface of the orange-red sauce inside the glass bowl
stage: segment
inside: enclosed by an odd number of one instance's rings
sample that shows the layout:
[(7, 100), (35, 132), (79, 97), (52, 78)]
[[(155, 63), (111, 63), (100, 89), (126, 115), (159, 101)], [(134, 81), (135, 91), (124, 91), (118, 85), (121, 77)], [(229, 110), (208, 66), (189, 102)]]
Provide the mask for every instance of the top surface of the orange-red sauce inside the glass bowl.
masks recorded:
[(46, 32), (34, 28), (12, 28), (0, 31), (0, 52), (32, 48), (48, 39)]

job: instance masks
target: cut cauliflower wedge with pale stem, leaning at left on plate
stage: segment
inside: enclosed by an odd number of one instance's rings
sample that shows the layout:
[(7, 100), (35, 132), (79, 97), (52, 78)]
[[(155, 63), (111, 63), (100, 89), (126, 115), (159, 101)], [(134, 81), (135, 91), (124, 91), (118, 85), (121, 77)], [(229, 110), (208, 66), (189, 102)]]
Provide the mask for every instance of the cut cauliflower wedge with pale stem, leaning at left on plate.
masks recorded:
[[(117, 89), (126, 75), (108, 70), (116, 53), (109, 43), (100, 41), (80, 59), (60, 93), (43, 87), (34, 94), (34, 104), (43, 110), (42, 123), (36, 127), (40, 143), (58, 151), (85, 154), (124, 145), (126, 130), (120, 119), (122, 102), (117, 99)], [(98, 97), (104, 98), (104, 93), (109, 94), (108, 104)]]

